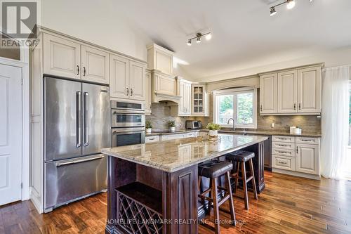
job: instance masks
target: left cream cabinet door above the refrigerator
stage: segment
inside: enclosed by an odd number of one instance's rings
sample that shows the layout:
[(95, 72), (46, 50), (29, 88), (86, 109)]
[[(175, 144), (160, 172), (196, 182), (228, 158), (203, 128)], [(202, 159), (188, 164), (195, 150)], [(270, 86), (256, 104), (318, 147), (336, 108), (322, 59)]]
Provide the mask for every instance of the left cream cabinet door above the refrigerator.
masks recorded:
[(80, 44), (44, 34), (43, 45), (44, 74), (81, 79)]

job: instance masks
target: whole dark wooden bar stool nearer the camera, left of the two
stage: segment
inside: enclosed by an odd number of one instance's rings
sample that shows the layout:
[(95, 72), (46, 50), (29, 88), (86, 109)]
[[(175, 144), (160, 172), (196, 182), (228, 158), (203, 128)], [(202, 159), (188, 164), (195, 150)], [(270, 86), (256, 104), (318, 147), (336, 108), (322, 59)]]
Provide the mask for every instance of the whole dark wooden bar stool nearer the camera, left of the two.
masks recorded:
[[(199, 184), (201, 181), (201, 176), (210, 178), (210, 188), (200, 193), (198, 196), (201, 200), (208, 200), (208, 209), (211, 210), (211, 203), (213, 202), (213, 210), (215, 217), (215, 233), (220, 233), (220, 223), (219, 223), (219, 207), (225, 201), (229, 199), (230, 202), (230, 216), (232, 219), (232, 225), (235, 226), (235, 212), (234, 203), (232, 196), (232, 186), (230, 185), (230, 171), (233, 168), (233, 164), (230, 162), (223, 162), (219, 160), (212, 160), (199, 164), (198, 174), (199, 174)], [(218, 177), (225, 175), (226, 188), (218, 186)], [(220, 201), (218, 201), (218, 189), (225, 191), (225, 195)], [(205, 194), (210, 193), (210, 197), (206, 197)]]

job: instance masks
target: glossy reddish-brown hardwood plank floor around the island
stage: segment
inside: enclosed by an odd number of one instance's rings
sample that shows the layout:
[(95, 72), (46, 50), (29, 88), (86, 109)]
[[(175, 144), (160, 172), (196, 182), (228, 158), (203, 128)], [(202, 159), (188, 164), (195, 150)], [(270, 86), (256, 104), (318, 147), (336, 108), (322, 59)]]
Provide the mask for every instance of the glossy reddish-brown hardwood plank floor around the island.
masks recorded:
[[(265, 181), (257, 202), (251, 194), (249, 212), (243, 200), (234, 199), (237, 219), (244, 224), (223, 224), (221, 233), (351, 233), (350, 181), (270, 172)], [(29, 201), (9, 204), (0, 207), (0, 233), (104, 233), (106, 200), (106, 194), (95, 195), (49, 214), (38, 214)], [(225, 212), (220, 217), (230, 220)], [(199, 226), (199, 233), (213, 232)]]

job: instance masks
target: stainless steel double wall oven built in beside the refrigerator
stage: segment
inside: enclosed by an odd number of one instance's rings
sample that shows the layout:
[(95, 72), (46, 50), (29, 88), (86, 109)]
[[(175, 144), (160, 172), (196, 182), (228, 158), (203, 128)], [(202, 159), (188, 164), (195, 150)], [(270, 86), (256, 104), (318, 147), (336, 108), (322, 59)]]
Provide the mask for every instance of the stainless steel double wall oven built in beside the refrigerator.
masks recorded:
[(145, 105), (111, 101), (112, 147), (145, 143)]

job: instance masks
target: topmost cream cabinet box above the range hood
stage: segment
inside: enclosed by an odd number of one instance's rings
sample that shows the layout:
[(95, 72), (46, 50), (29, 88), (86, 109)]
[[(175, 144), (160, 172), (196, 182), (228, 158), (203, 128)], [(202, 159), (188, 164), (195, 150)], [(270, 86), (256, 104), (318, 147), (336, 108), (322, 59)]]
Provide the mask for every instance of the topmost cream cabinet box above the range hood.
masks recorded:
[(165, 74), (173, 73), (173, 52), (152, 44), (147, 47), (147, 68), (159, 70)]

